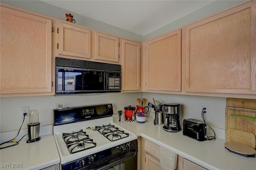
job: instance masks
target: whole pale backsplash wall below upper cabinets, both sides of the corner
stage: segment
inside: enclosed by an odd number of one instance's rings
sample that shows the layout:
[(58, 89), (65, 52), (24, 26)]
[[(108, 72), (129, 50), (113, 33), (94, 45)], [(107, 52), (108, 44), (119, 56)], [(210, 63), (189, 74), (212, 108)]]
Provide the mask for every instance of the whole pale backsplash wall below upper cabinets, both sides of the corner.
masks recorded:
[[(114, 107), (114, 118), (117, 111), (122, 110), (128, 105), (136, 106), (137, 98), (145, 98), (153, 103), (153, 99), (164, 103), (180, 103), (181, 119), (193, 118), (202, 120), (202, 105), (208, 106), (209, 115), (205, 117), (208, 125), (214, 128), (217, 137), (225, 138), (225, 107), (226, 98), (224, 97), (202, 97), (193, 95), (170, 95), (162, 93), (117, 93), (117, 94), (98, 94), (98, 95), (74, 95), (74, 96), (34, 96), (34, 97), (1, 97), (0, 98), (0, 132), (13, 131), (17, 134), (23, 117), (21, 107), (28, 106), (30, 110), (36, 109), (39, 112), (40, 127), (48, 127), (51, 130), (53, 122), (53, 109), (62, 103), (63, 107), (76, 107), (83, 105), (94, 105), (102, 103), (112, 103)], [(148, 115), (154, 118), (154, 110), (150, 108)], [(22, 130), (26, 132), (29, 118), (26, 117)], [(154, 123), (152, 122), (152, 126)], [(42, 129), (42, 128), (41, 128)], [(208, 130), (209, 133), (210, 130)], [(2, 135), (1, 135), (2, 136)], [(4, 140), (1, 138), (1, 142)]]

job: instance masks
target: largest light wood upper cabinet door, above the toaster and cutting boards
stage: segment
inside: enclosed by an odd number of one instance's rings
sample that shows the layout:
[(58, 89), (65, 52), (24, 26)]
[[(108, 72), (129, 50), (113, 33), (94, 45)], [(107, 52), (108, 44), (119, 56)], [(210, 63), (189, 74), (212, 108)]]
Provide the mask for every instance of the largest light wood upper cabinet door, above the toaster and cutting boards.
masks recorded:
[(186, 91), (256, 94), (256, 1), (186, 27)]

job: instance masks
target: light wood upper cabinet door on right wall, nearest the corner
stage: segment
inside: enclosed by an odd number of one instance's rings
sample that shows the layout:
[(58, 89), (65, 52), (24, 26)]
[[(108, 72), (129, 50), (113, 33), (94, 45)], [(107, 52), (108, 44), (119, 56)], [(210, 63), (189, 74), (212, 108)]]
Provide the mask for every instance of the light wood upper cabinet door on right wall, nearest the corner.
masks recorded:
[(181, 91), (181, 30), (146, 43), (146, 90)]

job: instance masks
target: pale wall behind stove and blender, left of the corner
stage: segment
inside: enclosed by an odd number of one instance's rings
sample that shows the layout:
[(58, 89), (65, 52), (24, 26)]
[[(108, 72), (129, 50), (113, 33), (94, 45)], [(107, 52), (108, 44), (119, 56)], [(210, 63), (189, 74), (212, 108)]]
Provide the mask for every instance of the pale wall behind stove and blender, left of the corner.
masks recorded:
[[(23, 117), (20, 107), (29, 106), (30, 110), (38, 110), (40, 127), (53, 124), (53, 109), (58, 103), (63, 107), (76, 107), (112, 103), (114, 114), (124, 111), (128, 105), (136, 106), (136, 99), (142, 98), (142, 93), (116, 93), (101, 95), (73, 96), (33, 96), (33, 97), (1, 97), (0, 98), (0, 132), (19, 129)], [(29, 118), (25, 118), (22, 128), (27, 128)]]

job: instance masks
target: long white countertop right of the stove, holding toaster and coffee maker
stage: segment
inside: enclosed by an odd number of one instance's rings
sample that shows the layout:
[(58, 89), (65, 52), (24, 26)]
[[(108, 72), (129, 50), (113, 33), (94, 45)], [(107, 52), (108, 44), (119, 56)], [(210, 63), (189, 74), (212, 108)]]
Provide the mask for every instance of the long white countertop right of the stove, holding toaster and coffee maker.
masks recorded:
[(210, 170), (255, 170), (256, 158), (234, 154), (224, 147), (225, 139), (197, 141), (180, 132), (167, 132), (154, 119), (145, 123), (114, 122), (120, 127), (142, 136), (176, 154)]

